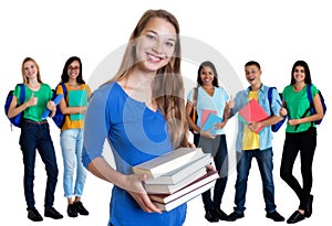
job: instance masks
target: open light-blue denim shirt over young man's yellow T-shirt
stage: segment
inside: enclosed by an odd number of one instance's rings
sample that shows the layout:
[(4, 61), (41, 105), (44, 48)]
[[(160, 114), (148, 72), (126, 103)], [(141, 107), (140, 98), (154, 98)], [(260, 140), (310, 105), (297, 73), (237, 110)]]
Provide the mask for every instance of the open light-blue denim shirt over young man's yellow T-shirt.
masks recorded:
[[(248, 95), (250, 92), (250, 86), (237, 93), (234, 101), (235, 101), (235, 107), (230, 111), (230, 117), (235, 116), (249, 100), (248, 100)], [(260, 106), (270, 115), (270, 116), (279, 116), (279, 111), (281, 108), (281, 99), (279, 97), (278, 90), (273, 89), (272, 90), (272, 101), (271, 101), (271, 107), (270, 103), (268, 99), (268, 90), (269, 87), (262, 85), (261, 88), (259, 89), (258, 94), (258, 101)], [(271, 112), (272, 110), (272, 112)], [(241, 120), (238, 120), (238, 134), (237, 134), (237, 143), (236, 143), (236, 150), (237, 152), (242, 151), (242, 138), (243, 138), (243, 129), (245, 129), (245, 123)], [(271, 131), (271, 126), (264, 127), (260, 133), (259, 133), (259, 149), (260, 150), (266, 150), (269, 148), (272, 148), (272, 139), (273, 134)]]

